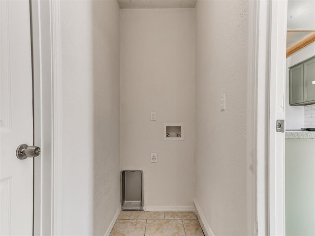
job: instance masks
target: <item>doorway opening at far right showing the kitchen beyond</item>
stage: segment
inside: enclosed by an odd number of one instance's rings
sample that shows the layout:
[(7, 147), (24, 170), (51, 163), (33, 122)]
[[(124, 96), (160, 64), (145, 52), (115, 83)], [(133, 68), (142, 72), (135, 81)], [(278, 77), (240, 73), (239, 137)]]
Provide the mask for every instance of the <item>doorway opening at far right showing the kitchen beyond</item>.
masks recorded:
[(287, 12), (285, 233), (315, 235), (315, 2), (288, 0)]

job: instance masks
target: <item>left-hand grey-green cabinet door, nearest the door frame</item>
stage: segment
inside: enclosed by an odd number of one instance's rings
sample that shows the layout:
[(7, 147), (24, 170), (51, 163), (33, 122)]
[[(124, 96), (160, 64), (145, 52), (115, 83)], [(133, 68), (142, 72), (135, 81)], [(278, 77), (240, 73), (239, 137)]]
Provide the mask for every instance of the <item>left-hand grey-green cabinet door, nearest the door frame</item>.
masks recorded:
[(289, 70), (289, 98), (290, 105), (304, 102), (303, 64), (296, 65)]

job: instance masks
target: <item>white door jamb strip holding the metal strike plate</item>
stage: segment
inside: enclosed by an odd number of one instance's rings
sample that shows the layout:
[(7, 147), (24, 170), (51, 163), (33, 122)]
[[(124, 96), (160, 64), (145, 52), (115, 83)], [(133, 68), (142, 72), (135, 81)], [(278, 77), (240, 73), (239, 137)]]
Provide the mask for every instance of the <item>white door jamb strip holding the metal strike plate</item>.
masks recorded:
[(284, 133), (276, 120), (285, 119), (287, 0), (271, 1), (269, 75), (269, 235), (285, 235)]

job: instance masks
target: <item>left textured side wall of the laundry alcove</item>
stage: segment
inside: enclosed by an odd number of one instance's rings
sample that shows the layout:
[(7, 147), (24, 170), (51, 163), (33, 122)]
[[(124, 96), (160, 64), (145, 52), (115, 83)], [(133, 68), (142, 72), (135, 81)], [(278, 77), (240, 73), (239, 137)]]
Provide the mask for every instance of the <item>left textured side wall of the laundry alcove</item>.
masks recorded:
[(105, 235), (119, 203), (119, 7), (61, 1), (62, 234)]

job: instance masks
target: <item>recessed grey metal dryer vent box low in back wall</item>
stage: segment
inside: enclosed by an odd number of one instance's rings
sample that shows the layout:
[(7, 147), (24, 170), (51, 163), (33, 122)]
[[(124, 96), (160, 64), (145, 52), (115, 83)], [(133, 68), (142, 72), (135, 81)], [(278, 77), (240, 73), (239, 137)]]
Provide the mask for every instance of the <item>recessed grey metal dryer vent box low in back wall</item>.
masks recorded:
[(143, 210), (143, 171), (121, 172), (122, 210)]

